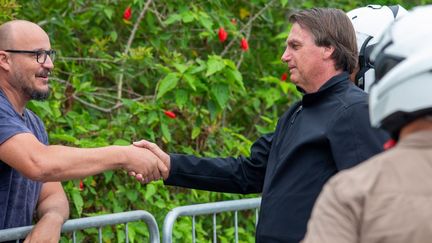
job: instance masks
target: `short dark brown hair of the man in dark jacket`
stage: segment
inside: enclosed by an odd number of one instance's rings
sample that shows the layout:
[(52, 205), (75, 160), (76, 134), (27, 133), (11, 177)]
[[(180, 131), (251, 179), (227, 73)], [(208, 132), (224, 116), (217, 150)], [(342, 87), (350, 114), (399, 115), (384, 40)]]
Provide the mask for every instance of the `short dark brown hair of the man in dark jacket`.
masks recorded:
[(312, 8), (290, 15), (291, 23), (308, 29), (317, 46), (332, 46), (332, 58), (337, 70), (352, 73), (357, 65), (357, 41), (348, 16), (339, 9)]

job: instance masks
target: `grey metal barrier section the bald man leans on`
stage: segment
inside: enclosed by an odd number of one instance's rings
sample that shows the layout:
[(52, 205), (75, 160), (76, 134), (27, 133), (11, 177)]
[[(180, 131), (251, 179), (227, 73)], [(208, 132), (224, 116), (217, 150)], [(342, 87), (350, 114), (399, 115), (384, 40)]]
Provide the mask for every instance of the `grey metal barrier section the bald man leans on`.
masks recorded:
[[(147, 211), (137, 210), (124, 213), (114, 213), (99, 215), (93, 217), (71, 219), (66, 221), (63, 225), (62, 233), (72, 232), (73, 242), (76, 242), (75, 232), (77, 230), (83, 230), (87, 228), (98, 228), (99, 242), (102, 242), (102, 227), (107, 225), (116, 224), (126, 224), (125, 235), (126, 243), (128, 239), (128, 222), (144, 221), (147, 224), (149, 230), (150, 243), (159, 243), (159, 230), (153, 215)], [(25, 226), (11, 229), (0, 230), (0, 241), (10, 241), (16, 240), (19, 242), (20, 239), (25, 238), (25, 236), (31, 231), (33, 226)]]

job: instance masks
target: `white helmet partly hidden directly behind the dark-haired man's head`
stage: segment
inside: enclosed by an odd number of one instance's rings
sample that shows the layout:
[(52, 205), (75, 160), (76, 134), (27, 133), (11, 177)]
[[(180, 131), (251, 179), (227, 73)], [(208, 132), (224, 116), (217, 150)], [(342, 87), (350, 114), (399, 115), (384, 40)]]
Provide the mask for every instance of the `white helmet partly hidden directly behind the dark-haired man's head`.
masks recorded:
[(355, 84), (366, 92), (374, 80), (373, 64), (369, 56), (384, 30), (397, 18), (407, 13), (400, 5), (367, 5), (347, 13), (356, 31), (359, 50), (359, 71)]

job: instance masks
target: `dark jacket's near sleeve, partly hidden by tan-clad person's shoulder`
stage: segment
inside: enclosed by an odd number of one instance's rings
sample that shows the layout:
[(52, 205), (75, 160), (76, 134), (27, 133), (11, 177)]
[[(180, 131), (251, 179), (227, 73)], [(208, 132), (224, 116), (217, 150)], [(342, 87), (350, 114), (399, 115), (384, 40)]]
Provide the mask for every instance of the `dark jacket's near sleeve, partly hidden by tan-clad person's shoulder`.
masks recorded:
[(383, 151), (390, 138), (372, 128), (366, 102), (345, 107), (330, 124), (329, 142), (338, 170), (350, 168)]

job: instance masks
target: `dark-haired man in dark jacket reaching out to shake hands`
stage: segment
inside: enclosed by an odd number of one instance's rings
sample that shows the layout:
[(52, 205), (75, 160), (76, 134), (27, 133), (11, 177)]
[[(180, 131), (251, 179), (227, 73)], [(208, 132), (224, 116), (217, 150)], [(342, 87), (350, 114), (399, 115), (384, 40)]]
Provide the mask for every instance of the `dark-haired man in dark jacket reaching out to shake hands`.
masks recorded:
[(301, 10), (290, 22), (282, 61), (304, 96), (280, 118), (273, 134), (253, 144), (250, 157), (168, 155), (153, 143), (135, 144), (167, 163), (167, 185), (262, 193), (260, 243), (299, 242), (324, 183), (381, 152), (387, 139), (369, 124), (367, 94), (349, 80), (357, 45), (347, 15), (336, 9)]

